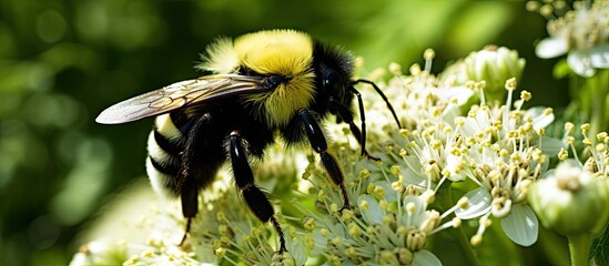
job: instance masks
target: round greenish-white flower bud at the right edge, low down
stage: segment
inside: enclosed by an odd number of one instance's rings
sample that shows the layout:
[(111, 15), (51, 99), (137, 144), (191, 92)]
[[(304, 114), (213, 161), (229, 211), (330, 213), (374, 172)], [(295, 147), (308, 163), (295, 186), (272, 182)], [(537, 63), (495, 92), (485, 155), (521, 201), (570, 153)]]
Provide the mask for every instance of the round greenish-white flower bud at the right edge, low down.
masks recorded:
[(562, 235), (602, 232), (609, 218), (609, 183), (568, 163), (534, 183), (529, 203), (544, 226)]

